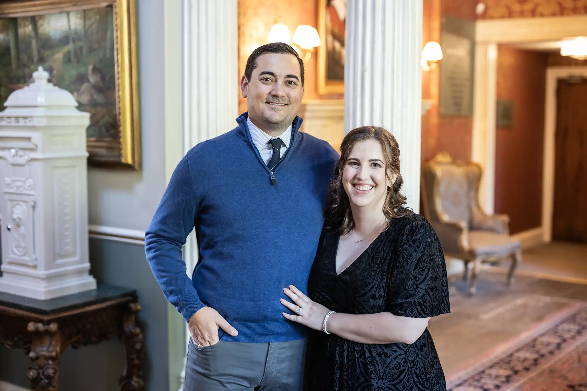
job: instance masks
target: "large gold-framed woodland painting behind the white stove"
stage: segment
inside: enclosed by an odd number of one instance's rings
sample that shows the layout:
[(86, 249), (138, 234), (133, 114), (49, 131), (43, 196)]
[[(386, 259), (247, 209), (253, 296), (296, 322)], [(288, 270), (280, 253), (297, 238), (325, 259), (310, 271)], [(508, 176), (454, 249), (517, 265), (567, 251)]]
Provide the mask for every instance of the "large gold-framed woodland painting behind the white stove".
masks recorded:
[(134, 2), (0, 2), (0, 110), (42, 66), (90, 114), (89, 166), (140, 170)]

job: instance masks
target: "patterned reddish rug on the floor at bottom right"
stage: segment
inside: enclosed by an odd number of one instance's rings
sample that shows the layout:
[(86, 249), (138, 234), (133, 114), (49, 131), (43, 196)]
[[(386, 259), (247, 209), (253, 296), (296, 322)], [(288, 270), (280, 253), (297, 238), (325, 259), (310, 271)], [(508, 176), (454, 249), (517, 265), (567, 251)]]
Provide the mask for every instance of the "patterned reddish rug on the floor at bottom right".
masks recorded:
[(587, 391), (587, 303), (555, 312), (447, 377), (448, 391)]

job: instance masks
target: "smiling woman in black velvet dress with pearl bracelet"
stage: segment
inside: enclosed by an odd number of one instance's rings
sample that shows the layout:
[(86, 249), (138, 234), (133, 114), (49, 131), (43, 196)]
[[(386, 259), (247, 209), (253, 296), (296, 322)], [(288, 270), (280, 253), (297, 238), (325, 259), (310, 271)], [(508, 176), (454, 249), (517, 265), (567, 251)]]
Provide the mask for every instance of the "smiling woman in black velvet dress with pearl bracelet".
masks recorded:
[(292, 302), (281, 301), (285, 318), (320, 331), (308, 389), (446, 390), (427, 330), (450, 312), (444, 255), (430, 224), (403, 207), (397, 141), (359, 127), (340, 150), (309, 297), (289, 286)]

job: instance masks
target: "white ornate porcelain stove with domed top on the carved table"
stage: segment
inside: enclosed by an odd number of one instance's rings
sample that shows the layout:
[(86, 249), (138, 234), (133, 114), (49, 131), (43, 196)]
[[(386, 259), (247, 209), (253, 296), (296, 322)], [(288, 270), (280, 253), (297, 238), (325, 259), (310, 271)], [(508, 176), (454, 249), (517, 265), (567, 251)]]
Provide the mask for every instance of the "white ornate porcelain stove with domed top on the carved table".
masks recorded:
[(0, 112), (0, 292), (51, 299), (96, 289), (87, 234), (88, 113), (41, 67)]

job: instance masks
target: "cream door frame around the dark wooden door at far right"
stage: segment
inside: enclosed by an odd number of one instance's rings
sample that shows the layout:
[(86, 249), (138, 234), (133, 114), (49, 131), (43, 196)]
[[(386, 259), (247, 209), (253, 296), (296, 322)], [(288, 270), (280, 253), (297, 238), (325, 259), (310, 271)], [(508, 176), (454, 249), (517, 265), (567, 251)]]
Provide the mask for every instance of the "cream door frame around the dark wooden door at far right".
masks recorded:
[[(586, 21), (587, 23), (587, 21)], [(572, 75), (587, 77), (587, 66), (552, 66), (546, 69), (544, 109), (544, 153), (542, 154), (542, 234), (545, 242), (552, 240), (554, 210), (554, 172), (556, 139), (556, 81)]]

